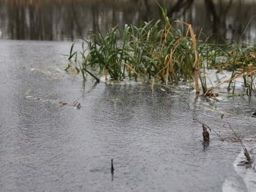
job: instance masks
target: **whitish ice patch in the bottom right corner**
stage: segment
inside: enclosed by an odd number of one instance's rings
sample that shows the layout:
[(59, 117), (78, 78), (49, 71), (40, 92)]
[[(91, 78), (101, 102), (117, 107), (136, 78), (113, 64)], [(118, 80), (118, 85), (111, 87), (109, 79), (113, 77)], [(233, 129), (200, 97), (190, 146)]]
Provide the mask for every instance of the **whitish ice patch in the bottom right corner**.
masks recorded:
[[(230, 176), (228, 177), (223, 186), (223, 192), (236, 192), (236, 191), (256, 191), (256, 166), (255, 166), (255, 156), (256, 156), (256, 144), (251, 146), (251, 148), (247, 148), (252, 152), (251, 158), (254, 161), (251, 166), (244, 165), (241, 166), (241, 162), (246, 160), (244, 157), (244, 151), (241, 149), (240, 154), (237, 155), (235, 162), (233, 162), (234, 169), (238, 176)], [(239, 177), (240, 176), (240, 177)]]

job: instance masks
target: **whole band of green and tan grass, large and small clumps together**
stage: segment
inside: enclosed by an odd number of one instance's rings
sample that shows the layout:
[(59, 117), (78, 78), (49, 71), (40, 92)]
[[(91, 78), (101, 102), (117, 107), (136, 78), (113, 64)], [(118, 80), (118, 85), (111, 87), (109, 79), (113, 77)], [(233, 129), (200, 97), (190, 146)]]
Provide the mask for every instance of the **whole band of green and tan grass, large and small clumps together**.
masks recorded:
[[(162, 20), (144, 22), (140, 27), (116, 26), (106, 35), (99, 32), (83, 40), (80, 54), (73, 51), (73, 44), (66, 70), (82, 73), (84, 79), (89, 74), (97, 82), (98, 76), (104, 74), (105, 79), (111, 80), (140, 79), (152, 87), (157, 82), (167, 87), (194, 80), (196, 93), (202, 90), (208, 96), (216, 96), (214, 88), (224, 83), (229, 84), (230, 90), (231, 83), (235, 87), (236, 79), (243, 77), (247, 94), (255, 91), (255, 45), (241, 48), (238, 44), (220, 46), (207, 40), (202, 42), (201, 34), (195, 35), (191, 24), (170, 23), (165, 7), (158, 6), (162, 9)], [(207, 88), (207, 69), (227, 69), (232, 76)]]

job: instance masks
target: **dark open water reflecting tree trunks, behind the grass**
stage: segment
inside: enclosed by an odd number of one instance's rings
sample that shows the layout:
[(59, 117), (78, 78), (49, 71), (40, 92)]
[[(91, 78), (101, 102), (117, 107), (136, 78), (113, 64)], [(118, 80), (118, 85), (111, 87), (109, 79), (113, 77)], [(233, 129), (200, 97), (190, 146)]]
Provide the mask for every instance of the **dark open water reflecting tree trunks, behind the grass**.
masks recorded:
[[(255, 43), (254, 0), (168, 1), (170, 18), (193, 24), (197, 34)], [(239, 13), (239, 14), (238, 14)], [(153, 0), (0, 0), (0, 38), (74, 40), (119, 24), (160, 18)]]

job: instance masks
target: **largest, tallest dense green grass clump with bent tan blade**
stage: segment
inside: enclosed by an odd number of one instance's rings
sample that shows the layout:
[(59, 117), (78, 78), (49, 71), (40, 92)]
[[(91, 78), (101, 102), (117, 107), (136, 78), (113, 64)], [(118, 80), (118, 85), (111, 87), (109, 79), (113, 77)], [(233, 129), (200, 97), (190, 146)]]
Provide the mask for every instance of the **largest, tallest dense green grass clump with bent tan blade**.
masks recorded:
[[(90, 40), (83, 40), (82, 62), (77, 61), (77, 52), (72, 52), (72, 46), (66, 70), (76, 69), (85, 78), (87, 66), (91, 66), (97, 67), (99, 74), (104, 73), (105, 79), (160, 80), (165, 85), (197, 79), (200, 67), (193, 28), (176, 21), (188, 27), (187, 34), (183, 35), (182, 30), (169, 23), (166, 9), (161, 9), (163, 20), (144, 22), (140, 27), (126, 25), (123, 30), (116, 26), (107, 35), (99, 32)], [(196, 87), (199, 91), (198, 83)]]

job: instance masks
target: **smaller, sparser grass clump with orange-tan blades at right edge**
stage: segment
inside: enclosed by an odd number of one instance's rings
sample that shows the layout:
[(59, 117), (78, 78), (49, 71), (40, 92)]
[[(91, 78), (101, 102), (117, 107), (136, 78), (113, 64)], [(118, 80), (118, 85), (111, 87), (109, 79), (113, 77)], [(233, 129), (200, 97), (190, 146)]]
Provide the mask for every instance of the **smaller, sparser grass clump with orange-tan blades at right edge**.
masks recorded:
[[(215, 49), (216, 50), (216, 49)], [(248, 96), (255, 93), (255, 77), (256, 77), (256, 46), (247, 46), (241, 48), (238, 44), (228, 44), (226, 46), (218, 46), (218, 53), (215, 58), (208, 59), (207, 65), (209, 68), (231, 71), (229, 79), (219, 82), (214, 88), (227, 83), (227, 90), (235, 91), (235, 83), (238, 79), (243, 79), (243, 85)], [(207, 55), (208, 56), (208, 55)], [(233, 89), (231, 84), (233, 83)]]

